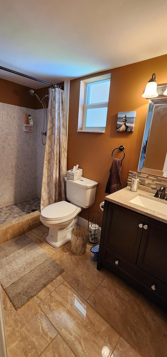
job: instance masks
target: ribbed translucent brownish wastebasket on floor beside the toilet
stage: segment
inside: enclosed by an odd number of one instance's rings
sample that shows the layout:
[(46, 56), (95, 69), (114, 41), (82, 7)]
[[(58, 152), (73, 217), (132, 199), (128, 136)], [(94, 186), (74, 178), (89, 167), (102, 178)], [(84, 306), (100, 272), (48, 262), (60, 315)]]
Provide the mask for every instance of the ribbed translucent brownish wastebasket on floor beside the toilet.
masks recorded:
[(88, 231), (83, 227), (76, 227), (71, 232), (71, 252), (82, 255), (87, 250)]

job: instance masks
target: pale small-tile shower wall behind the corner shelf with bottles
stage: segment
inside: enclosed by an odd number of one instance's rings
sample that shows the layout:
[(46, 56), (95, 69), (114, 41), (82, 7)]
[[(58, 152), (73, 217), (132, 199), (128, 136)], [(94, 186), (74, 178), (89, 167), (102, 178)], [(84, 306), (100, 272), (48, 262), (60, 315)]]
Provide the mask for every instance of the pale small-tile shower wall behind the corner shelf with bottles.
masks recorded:
[[(25, 112), (33, 118), (33, 132), (23, 131)], [(0, 207), (41, 196), (43, 115), (42, 109), (0, 103)]]

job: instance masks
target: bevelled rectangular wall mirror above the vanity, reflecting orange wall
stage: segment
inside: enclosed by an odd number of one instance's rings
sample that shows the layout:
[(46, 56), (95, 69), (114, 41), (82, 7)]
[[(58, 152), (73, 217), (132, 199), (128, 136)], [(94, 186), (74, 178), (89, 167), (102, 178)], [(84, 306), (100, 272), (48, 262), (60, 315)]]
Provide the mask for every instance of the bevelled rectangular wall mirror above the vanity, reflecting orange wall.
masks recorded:
[(167, 98), (149, 100), (138, 171), (167, 177)]

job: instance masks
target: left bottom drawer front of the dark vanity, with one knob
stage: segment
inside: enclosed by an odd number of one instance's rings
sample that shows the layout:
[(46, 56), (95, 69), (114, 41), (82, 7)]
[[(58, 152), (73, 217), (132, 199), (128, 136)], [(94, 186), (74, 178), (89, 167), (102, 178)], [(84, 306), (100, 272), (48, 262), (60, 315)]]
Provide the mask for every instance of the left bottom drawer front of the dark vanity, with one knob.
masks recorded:
[(127, 261), (121, 255), (113, 252), (106, 246), (103, 246), (102, 261), (114, 268), (124, 270), (129, 274), (132, 273), (133, 267), (135, 268), (133, 263)]

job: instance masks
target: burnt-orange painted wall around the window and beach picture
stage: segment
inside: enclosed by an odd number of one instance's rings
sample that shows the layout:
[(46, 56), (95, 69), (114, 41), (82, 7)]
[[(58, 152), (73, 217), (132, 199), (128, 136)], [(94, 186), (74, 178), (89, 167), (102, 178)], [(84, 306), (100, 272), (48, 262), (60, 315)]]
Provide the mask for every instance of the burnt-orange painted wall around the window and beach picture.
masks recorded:
[[(100, 74), (111, 73), (108, 102), (107, 126), (104, 134), (77, 133), (80, 81)], [(95, 73), (91, 76), (70, 81), (69, 128), (68, 128), (68, 169), (76, 164), (83, 169), (83, 176), (98, 182), (93, 207), (83, 210), (81, 217), (88, 218), (90, 210), (98, 210), (104, 200), (105, 185), (112, 164), (112, 150), (125, 146), (125, 159), (122, 167), (122, 183), (127, 185), (129, 170), (137, 170), (141, 151), (148, 100), (142, 93), (153, 73), (157, 83), (167, 82), (167, 55), (146, 61)], [(118, 111), (136, 110), (134, 132), (116, 132)], [(121, 152), (115, 152), (121, 158)]]

